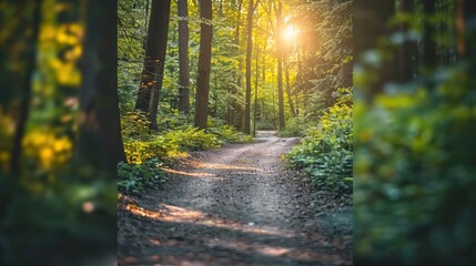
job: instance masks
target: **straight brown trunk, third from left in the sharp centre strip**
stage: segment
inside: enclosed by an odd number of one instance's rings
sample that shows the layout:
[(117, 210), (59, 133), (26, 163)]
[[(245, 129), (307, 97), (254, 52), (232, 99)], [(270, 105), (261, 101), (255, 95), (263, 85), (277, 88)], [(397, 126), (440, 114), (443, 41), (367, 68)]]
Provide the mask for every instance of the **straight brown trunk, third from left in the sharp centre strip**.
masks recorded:
[(195, 93), (195, 126), (206, 129), (209, 117), (210, 70), (212, 63), (212, 0), (200, 1), (200, 55)]

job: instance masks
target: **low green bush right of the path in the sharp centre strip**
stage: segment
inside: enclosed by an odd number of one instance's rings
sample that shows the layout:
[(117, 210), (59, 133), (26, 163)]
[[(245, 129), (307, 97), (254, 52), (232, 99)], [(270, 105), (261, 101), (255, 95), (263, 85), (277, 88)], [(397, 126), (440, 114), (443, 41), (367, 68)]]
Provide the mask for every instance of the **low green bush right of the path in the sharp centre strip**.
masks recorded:
[[(350, 90), (347, 90), (350, 92)], [(290, 164), (303, 170), (318, 187), (335, 193), (352, 193), (353, 123), (352, 108), (344, 104), (345, 94), (321, 116), (317, 126), (287, 154)]]

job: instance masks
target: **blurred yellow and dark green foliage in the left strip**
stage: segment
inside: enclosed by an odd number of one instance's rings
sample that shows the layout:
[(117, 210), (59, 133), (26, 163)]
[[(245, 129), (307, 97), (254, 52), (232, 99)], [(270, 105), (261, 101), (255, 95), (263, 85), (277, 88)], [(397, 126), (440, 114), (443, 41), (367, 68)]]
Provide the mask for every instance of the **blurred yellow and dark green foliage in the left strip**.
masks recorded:
[[(115, 253), (115, 176), (73, 162), (84, 35), (80, 8), (59, 0), (0, 4), (1, 265), (78, 265)], [(9, 162), (22, 121), (20, 170), (13, 174)]]

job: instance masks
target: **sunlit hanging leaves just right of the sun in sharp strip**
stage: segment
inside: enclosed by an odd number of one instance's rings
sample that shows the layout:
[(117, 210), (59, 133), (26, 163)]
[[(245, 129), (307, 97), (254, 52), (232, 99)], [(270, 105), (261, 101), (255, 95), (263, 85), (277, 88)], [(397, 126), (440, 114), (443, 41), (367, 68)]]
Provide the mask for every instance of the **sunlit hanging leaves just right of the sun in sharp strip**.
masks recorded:
[(338, 88), (352, 85), (353, 1), (307, 1), (294, 12), (304, 33), (298, 40), (304, 55), (296, 90), (304, 94), (306, 117), (317, 120), (335, 103), (332, 95)]

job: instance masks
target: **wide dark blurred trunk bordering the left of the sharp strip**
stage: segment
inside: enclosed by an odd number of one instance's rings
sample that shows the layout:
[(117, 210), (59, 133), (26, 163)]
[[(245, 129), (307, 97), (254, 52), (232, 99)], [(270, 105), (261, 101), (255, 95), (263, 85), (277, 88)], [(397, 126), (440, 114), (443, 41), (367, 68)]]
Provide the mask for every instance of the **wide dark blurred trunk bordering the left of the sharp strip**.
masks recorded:
[[(115, 0), (89, 1), (80, 89), (79, 132), (74, 160), (117, 178), (118, 162), (125, 161), (117, 68)], [(89, 62), (85, 65), (85, 62)]]

